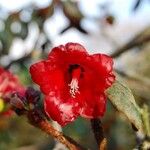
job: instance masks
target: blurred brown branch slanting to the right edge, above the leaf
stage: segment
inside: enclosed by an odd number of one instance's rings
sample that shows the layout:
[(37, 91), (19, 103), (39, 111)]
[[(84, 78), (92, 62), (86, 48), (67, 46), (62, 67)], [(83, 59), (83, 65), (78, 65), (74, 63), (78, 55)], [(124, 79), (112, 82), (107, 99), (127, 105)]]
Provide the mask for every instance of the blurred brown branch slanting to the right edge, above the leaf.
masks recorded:
[(150, 35), (141, 38), (141, 35), (136, 36), (133, 40), (122, 46), (121, 48), (118, 48), (115, 50), (114, 53), (112, 53), (110, 56), (113, 58), (119, 57), (122, 53), (129, 51), (131, 48), (138, 47), (142, 44), (145, 44), (150, 41)]

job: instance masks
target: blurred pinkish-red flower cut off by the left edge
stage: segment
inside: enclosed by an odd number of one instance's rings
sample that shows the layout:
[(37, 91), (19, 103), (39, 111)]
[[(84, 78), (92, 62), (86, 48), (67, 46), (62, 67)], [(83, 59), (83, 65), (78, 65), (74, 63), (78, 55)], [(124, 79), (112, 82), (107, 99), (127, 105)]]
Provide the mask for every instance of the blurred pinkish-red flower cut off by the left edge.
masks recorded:
[(12, 92), (24, 93), (25, 89), (19, 79), (9, 71), (0, 67), (0, 97)]

